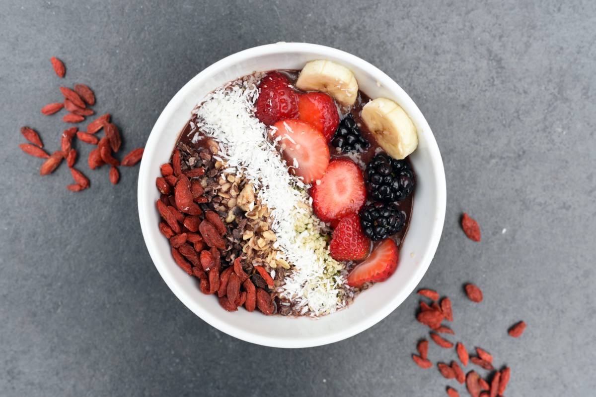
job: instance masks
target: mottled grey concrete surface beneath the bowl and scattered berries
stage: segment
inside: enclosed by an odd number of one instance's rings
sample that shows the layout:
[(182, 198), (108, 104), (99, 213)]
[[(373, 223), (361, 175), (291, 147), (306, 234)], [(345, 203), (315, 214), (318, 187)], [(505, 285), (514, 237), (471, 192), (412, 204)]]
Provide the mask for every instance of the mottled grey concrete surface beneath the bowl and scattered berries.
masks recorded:
[[(226, 55), (304, 41), (378, 65), (418, 103), (445, 161), (443, 238), (421, 286), (452, 298), (457, 336), (512, 368), (507, 396), (593, 395), (596, 377), (596, 2), (0, 2), (0, 395), (445, 396), (454, 381), (412, 363), (425, 335), (411, 296), (372, 329), (312, 349), (218, 332), (151, 263), (138, 168), (66, 190), (41, 178), (21, 125), (59, 147), (39, 109), (87, 83), (123, 150), (143, 146), (166, 103)], [(59, 80), (49, 58), (67, 65)], [(76, 144), (86, 157), (89, 147)], [(480, 244), (458, 226), (482, 226)], [(504, 229), (507, 229), (506, 232)], [(485, 301), (465, 300), (462, 285)], [(510, 324), (526, 320), (520, 339)], [(434, 361), (452, 351), (432, 345)]]

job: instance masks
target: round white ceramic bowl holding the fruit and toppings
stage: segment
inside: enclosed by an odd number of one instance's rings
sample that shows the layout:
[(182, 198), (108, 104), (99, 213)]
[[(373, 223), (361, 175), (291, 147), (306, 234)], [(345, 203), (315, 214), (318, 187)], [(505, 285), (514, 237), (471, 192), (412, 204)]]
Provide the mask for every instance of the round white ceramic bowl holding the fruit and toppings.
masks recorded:
[[(414, 209), (402, 245), (399, 266), (387, 281), (362, 292), (347, 309), (318, 320), (263, 316), (257, 311), (228, 313), (213, 295), (203, 295), (195, 278), (172, 259), (170, 245), (158, 228), (155, 180), (166, 163), (191, 110), (206, 94), (222, 84), (254, 71), (301, 69), (313, 59), (330, 59), (345, 65), (369, 96), (395, 100), (418, 129), (418, 149), (410, 159), (417, 174)], [(189, 81), (170, 100), (147, 140), (139, 171), (138, 204), (141, 229), (151, 259), (167, 286), (204, 321), (236, 338), (265, 346), (303, 348), (349, 338), (379, 322), (416, 288), (433, 259), (445, 219), (445, 171), (429, 124), (412, 99), (378, 68), (349, 53), (306, 43), (277, 43), (230, 55)]]

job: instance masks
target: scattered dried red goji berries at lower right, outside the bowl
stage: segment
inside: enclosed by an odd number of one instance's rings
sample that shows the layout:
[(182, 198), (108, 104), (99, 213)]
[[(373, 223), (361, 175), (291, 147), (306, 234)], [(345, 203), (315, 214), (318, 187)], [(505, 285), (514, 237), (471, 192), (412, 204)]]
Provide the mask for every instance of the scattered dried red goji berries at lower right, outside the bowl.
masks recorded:
[[(476, 285), (465, 285), (465, 292), (470, 301), (475, 303), (482, 301), (482, 291)], [(418, 294), (429, 298), (432, 303), (429, 305), (429, 303), (421, 300), (420, 312), (417, 314), (416, 319), (418, 322), (428, 326), (431, 329), (430, 338), (435, 344), (445, 349), (453, 348), (454, 344), (452, 342), (439, 335), (439, 333), (455, 335), (455, 332), (453, 332), (451, 328), (442, 324), (443, 320), (447, 320), (448, 322), (453, 321), (451, 300), (447, 297), (443, 297), (439, 303), (440, 295), (438, 292), (433, 291), (432, 289), (420, 289)], [(522, 334), (525, 327), (526, 324), (524, 322), (517, 323), (509, 330), (509, 335), (517, 338)], [(421, 368), (432, 367), (433, 363), (429, 360), (429, 341), (423, 339), (418, 342), (417, 350), (418, 355), (412, 355), (414, 363)], [(495, 367), (493, 366), (492, 355), (485, 349), (479, 347), (476, 348), (476, 355), (470, 356), (464, 344), (457, 342), (455, 345), (455, 352), (462, 366), (466, 367), (468, 363), (471, 362), (472, 364), (484, 368), (487, 371), (491, 371), (491, 374), (489, 374), (488, 377), (491, 382), (489, 383), (488, 379), (483, 379), (474, 370), (471, 370), (465, 374), (460, 364), (458, 364), (456, 361), (451, 361), (451, 364), (437, 363), (437, 368), (439, 369), (441, 375), (445, 377), (445, 379), (455, 379), (460, 383), (460, 385), (463, 385), (465, 382), (468, 392), (473, 397), (502, 396), (503, 392), (505, 391), (505, 387), (507, 387), (507, 383), (509, 382), (510, 368), (503, 367), (502, 370), (496, 371)], [(453, 387), (448, 386), (446, 392), (449, 397), (460, 396), (460, 393)]]

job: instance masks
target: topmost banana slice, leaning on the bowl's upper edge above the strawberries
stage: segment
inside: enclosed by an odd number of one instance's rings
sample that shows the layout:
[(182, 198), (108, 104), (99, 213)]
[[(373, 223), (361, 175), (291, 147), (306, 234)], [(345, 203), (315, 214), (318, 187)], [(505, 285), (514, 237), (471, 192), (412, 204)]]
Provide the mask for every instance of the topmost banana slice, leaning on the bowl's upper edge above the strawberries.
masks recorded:
[(311, 61), (302, 68), (296, 87), (303, 91), (322, 91), (342, 105), (350, 106), (358, 96), (358, 82), (351, 70), (335, 62)]

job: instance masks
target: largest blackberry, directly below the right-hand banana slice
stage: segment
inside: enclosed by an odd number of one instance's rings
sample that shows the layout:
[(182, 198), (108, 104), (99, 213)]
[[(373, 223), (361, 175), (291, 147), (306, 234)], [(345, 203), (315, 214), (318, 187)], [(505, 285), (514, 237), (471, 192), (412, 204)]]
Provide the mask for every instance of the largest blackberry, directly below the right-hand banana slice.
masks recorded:
[(416, 177), (406, 160), (396, 160), (383, 153), (367, 165), (367, 191), (373, 200), (390, 203), (403, 200), (414, 191)]

